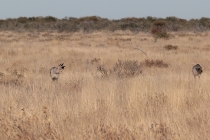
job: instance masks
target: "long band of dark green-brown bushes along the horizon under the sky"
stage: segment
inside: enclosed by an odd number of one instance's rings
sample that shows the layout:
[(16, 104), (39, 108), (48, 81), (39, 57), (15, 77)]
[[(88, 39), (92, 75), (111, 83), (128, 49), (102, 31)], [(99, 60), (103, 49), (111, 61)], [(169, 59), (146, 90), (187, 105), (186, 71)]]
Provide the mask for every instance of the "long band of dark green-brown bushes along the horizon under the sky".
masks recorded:
[[(163, 26), (164, 25), (164, 26)], [(210, 18), (181, 19), (177, 17), (156, 18), (148, 16), (146, 18), (122, 18), (109, 20), (98, 16), (90, 17), (65, 17), (58, 19), (52, 16), (47, 17), (19, 17), (0, 20), (0, 31), (49, 31), (49, 32), (78, 32), (90, 33), (94, 31), (117, 31), (129, 30), (134, 33), (150, 32), (152, 27), (161, 27), (168, 31), (193, 31), (203, 32), (210, 30)], [(160, 29), (160, 28), (159, 28)], [(155, 28), (152, 32), (159, 30)], [(162, 32), (164, 35), (164, 32)]]

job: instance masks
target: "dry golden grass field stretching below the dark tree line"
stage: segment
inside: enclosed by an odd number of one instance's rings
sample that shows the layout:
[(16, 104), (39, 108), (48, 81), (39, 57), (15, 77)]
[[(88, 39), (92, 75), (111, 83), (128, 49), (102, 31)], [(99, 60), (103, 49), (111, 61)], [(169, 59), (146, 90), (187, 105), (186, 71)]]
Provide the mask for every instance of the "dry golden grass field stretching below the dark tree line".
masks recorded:
[[(0, 139), (209, 139), (209, 38), (210, 32), (170, 33), (157, 42), (129, 31), (0, 32)], [(166, 50), (168, 44), (178, 49)], [(110, 71), (118, 60), (136, 61), (142, 72), (119, 77)], [(53, 82), (49, 70), (60, 63), (66, 67)], [(200, 79), (191, 72), (197, 63)]]

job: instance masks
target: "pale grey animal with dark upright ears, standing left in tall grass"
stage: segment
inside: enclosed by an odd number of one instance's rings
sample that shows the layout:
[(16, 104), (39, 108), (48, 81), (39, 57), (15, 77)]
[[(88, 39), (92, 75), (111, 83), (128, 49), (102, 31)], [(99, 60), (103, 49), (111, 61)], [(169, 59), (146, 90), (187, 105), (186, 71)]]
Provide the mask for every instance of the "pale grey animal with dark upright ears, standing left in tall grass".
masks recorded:
[(50, 76), (52, 78), (53, 81), (57, 81), (59, 76), (60, 76), (60, 73), (62, 72), (62, 70), (64, 70), (64, 63), (61, 63), (59, 66), (57, 67), (52, 67), (50, 69)]

